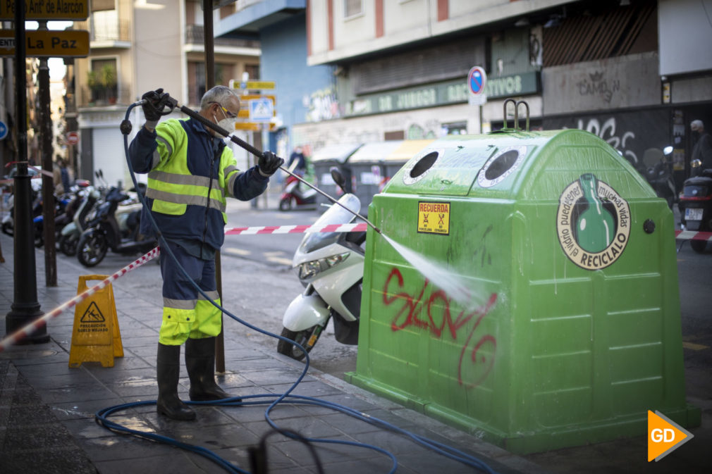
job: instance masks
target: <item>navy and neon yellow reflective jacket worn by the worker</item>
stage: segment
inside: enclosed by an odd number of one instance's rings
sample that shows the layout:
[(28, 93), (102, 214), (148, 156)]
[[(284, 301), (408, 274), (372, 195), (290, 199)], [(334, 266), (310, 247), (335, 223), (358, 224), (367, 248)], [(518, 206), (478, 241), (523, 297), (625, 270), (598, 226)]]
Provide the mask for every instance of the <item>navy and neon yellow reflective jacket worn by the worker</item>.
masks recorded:
[(137, 172), (148, 172), (147, 202), (163, 235), (215, 250), (224, 241), (226, 197), (252, 199), (268, 182), (256, 167), (240, 172), (231, 149), (193, 119), (164, 120), (155, 132), (141, 127), (130, 159)]

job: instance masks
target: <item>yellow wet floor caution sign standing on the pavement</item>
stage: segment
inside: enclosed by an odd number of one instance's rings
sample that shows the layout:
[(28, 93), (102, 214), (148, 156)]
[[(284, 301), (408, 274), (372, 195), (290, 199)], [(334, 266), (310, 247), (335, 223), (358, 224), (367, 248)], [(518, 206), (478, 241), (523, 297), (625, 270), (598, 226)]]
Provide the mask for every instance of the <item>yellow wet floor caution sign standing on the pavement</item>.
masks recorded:
[[(90, 280), (105, 280), (107, 275), (81, 275), (77, 294), (89, 287)], [(114, 357), (124, 357), (119, 321), (116, 317), (114, 290), (111, 285), (76, 305), (69, 367), (79, 367), (82, 362), (101, 362), (103, 367), (114, 367)]]

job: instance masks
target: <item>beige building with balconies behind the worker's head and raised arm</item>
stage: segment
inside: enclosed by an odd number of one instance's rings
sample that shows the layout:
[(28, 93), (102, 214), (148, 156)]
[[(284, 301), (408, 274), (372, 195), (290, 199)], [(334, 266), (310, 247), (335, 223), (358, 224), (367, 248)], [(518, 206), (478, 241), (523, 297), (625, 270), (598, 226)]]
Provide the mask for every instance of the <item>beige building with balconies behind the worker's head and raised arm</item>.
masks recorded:
[[(90, 32), (90, 55), (68, 67), (66, 120), (68, 130), (80, 135), (74, 152), (78, 177), (93, 179), (101, 169), (110, 184), (125, 184), (129, 176), (118, 124), (127, 106), (162, 88), (180, 105), (197, 108), (206, 90), (203, 11), (199, 0), (103, 0), (91, 7), (88, 20), (74, 25)], [(214, 22), (234, 9), (235, 4), (215, 9)], [(259, 55), (256, 41), (216, 40), (216, 84), (257, 71)], [(131, 120), (135, 134), (143, 122), (140, 107)], [(244, 166), (245, 154), (239, 156)]]

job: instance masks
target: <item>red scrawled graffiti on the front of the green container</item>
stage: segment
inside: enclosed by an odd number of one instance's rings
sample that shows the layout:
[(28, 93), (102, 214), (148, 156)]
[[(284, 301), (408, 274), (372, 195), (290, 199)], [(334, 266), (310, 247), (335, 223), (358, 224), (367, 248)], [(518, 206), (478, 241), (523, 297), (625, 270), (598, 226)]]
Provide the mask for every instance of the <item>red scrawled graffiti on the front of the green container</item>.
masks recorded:
[(383, 285), (384, 305), (396, 305), (397, 309), (391, 330), (399, 332), (414, 327), (436, 338), (461, 342), (457, 381), (466, 389), (481, 384), (494, 366), (497, 340), (483, 333), (480, 323), (497, 301), (497, 294), (492, 293), (487, 302), (475, 310), (461, 310), (453, 319), (451, 298), (444, 290), (430, 287), (427, 279), (422, 288), (412, 294), (402, 290), (404, 285), (400, 270), (392, 268)]

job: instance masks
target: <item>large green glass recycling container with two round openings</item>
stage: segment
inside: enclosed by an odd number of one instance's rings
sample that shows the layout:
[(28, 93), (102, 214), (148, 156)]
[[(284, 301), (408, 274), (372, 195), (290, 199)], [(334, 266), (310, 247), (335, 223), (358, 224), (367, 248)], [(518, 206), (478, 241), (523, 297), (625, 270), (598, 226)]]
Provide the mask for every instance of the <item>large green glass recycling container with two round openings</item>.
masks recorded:
[(368, 216), (382, 235), (367, 234), (351, 383), (515, 453), (642, 436), (648, 410), (700, 422), (673, 214), (602, 139), (439, 139)]

